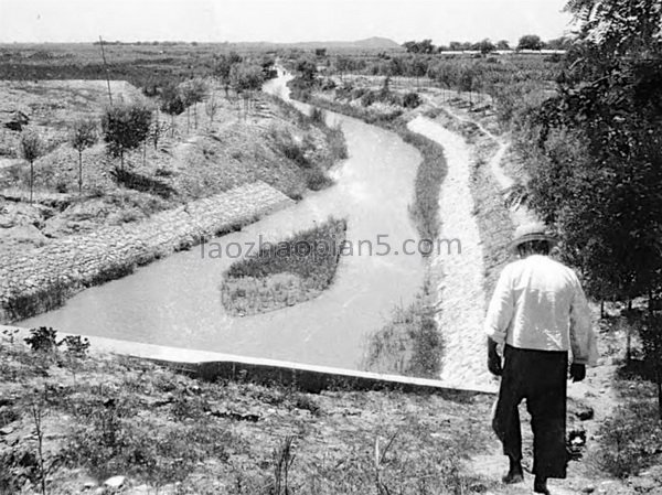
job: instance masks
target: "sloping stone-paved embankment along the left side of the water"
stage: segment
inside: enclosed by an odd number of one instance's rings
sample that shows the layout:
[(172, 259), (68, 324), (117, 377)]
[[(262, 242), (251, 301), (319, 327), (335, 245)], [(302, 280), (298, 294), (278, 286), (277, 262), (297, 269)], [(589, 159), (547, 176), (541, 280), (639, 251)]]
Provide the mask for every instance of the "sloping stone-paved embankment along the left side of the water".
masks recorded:
[(24, 256), (3, 259), (0, 322), (49, 311), (87, 287), (128, 275), (136, 266), (241, 228), (291, 203), (281, 192), (256, 182), (143, 222), (63, 237)]

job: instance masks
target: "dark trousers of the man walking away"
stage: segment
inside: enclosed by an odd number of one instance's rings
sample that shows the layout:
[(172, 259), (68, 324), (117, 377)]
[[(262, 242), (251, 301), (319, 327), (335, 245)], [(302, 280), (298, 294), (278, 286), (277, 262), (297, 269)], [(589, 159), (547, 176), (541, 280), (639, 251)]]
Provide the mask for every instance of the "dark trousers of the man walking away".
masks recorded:
[(533, 473), (566, 477), (566, 352), (532, 351), (505, 346), (503, 375), (492, 428), (503, 453), (522, 459), (517, 406), (526, 399), (533, 430)]

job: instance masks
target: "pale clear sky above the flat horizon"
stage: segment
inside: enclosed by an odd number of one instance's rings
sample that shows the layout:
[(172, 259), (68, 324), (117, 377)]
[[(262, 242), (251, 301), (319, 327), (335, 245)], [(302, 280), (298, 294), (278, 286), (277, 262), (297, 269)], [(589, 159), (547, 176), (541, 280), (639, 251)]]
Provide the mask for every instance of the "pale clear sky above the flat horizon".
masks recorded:
[(516, 42), (569, 32), (567, 0), (0, 0), (0, 42)]

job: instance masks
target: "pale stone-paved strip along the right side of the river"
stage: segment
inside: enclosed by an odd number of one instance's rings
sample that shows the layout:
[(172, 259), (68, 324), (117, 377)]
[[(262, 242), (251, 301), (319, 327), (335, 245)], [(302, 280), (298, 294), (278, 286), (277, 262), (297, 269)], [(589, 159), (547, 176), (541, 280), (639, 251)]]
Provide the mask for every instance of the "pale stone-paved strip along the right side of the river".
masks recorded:
[(408, 128), (444, 147), (448, 173), (439, 194), (441, 239), (459, 239), (461, 254), (435, 254), (431, 271), (437, 284), (437, 324), (445, 341), (442, 381), (494, 389), (484, 364), (483, 254), (478, 223), (472, 212), (469, 149), (465, 140), (425, 117)]

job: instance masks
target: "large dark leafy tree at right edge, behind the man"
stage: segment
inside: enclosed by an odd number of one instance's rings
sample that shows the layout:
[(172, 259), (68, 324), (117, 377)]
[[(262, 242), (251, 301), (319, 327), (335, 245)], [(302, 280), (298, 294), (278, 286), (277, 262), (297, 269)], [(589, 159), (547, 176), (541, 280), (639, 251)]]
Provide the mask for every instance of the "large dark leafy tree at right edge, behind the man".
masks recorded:
[(650, 297), (662, 286), (660, 28), (628, 33), (655, 24), (662, 1), (570, 3), (590, 13), (575, 12), (581, 31), (558, 95), (527, 119), (530, 203), (563, 233), (594, 297)]

